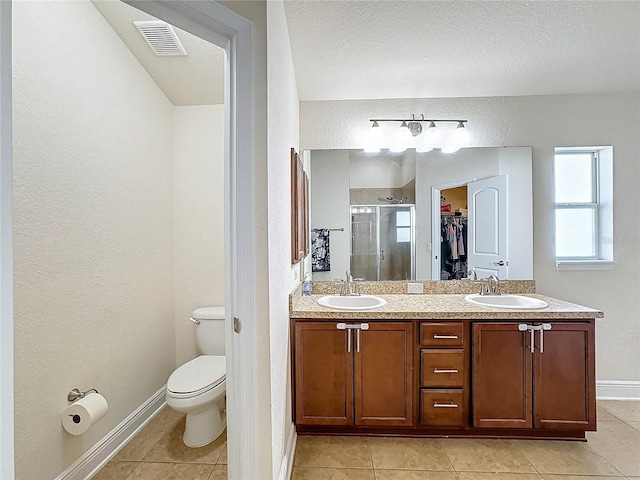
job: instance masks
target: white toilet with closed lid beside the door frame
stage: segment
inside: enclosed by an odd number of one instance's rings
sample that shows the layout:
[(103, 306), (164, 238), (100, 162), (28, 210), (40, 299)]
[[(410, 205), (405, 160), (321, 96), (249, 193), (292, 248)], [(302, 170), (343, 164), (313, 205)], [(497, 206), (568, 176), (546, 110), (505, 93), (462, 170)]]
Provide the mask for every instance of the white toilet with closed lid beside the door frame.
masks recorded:
[(186, 413), (182, 437), (188, 447), (213, 442), (227, 426), (224, 307), (193, 311), (196, 344), (201, 355), (178, 367), (167, 380), (167, 405)]

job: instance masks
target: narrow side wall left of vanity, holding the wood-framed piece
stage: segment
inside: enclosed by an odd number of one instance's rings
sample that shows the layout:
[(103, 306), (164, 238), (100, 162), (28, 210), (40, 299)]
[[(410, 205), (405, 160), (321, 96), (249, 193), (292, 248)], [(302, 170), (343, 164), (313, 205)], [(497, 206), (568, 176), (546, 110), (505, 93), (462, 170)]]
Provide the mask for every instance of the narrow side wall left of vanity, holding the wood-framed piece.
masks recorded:
[[(284, 478), (291, 418), (289, 292), (299, 278), (291, 265), (290, 149), (298, 150), (298, 90), (282, 1), (267, 2), (269, 63), (269, 338), (271, 347), (271, 428), (273, 478)], [(293, 452), (289, 452), (293, 455)], [(284, 460), (284, 462), (283, 462)], [(265, 477), (266, 478), (266, 477)]]

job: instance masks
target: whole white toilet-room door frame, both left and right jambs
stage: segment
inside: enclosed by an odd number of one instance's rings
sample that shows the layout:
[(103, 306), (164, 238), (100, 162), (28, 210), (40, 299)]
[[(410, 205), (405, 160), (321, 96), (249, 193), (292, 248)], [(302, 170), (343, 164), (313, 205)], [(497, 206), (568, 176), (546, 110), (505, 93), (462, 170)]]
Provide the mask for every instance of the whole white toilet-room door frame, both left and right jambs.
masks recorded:
[[(207, 0), (126, 0), (126, 3), (225, 50), (225, 305), (227, 437), (230, 478), (256, 477), (253, 349), (255, 308), (247, 288), (254, 278), (254, 188), (252, 129), (255, 56), (253, 24)], [(11, 0), (0, 1), (0, 478), (14, 474), (13, 252), (11, 138)], [(245, 127), (245, 128), (243, 128)], [(239, 212), (241, 214), (239, 214)], [(241, 254), (240, 254), (241, 253)], [(242, 320), (234, 334), (231, 318)]]

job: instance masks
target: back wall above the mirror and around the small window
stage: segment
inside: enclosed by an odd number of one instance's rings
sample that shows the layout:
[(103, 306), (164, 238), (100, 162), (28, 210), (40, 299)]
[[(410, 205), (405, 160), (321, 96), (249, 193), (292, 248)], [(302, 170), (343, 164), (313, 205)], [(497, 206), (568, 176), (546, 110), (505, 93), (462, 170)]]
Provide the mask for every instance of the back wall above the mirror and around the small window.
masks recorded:
[[(538, 292), (605, 312), (596, 327), (597, 378), (640, 382), (640, 96), (394, 99), (301, 102), (300, 146), (362, 148), (370, 118), (424, 113), (466, 118), (472, 146), (533, 147), (534, 279)], [(614, 252), (611, 271), (558, 272), (553, 244), (553, 149), (612, 145)], [(640, 383), (636, 383), (640, 385)]]

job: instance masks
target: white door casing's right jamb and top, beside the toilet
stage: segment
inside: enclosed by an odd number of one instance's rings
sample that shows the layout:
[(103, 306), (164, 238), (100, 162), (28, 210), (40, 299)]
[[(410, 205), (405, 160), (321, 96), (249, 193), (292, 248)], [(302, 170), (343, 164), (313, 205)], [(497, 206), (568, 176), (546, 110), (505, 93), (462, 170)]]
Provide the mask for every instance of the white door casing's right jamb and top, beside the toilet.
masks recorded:
[[(253, 24), (212, 1), (125, 0), (225, 49), (225, 306), (229, 478), (257, 478)], [(247, 125), (250, 125), (247, 128)], [(234, 333), (232, 318), (242, 322)]]

